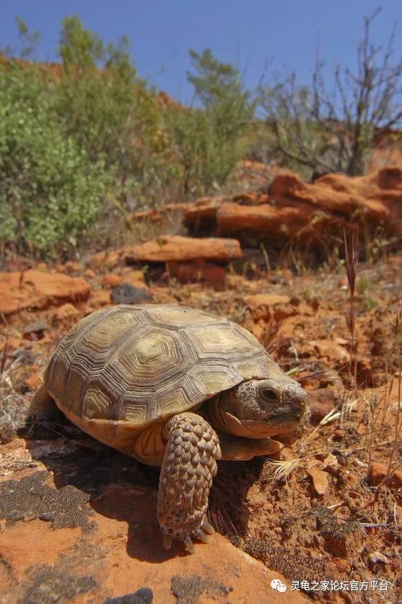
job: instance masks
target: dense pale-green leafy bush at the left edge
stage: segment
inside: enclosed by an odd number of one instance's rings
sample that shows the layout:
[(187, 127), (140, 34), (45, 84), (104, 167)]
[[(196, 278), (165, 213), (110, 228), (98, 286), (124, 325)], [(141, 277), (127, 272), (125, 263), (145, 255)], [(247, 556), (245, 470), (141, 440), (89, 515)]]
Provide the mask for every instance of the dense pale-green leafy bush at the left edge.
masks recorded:
[(0, 66), (0, 239), (55, 255), (98, 215), (109, 181), (55, 114), (53, 91), (29, 67)]

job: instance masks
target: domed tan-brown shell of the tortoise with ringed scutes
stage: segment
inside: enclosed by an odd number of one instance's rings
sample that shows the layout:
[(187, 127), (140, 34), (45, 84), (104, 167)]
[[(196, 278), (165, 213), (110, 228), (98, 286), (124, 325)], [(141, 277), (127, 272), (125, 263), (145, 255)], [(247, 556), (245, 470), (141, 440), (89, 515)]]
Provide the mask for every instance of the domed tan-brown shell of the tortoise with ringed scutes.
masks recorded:
[(281, 372), (252, 334), (169, 305), (120, 305), (76, 324), (45, 373), (53, 398), (86, 419), (149, 424), (252, 378)]

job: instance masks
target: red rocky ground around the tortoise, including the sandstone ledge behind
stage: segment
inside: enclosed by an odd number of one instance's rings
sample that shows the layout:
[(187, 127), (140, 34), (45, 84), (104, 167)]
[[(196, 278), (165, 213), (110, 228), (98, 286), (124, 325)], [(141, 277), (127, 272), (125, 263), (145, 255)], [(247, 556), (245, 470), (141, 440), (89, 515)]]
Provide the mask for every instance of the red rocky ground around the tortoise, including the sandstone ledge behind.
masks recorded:
[[(81, 263), (8, 257), (0, 273), (1, 603), (100, 604), (145, 587), (156, 604), (402, 598), (402, 254), (387, 244), (401, 234), (401, 177), (396, 169), (307, 185), (282, 174), (265, 191), (201, 199), (183, 210), (193, 235), (202, 221), (203, 235), (226, 235), (222, 225), (232, 216), (236, 239), (215, 239), (212, 256), (205, 239), (161, 233), (151, 244)], [(343, 261), (335, 254), (313, 271), (299, 254), (314, 256), (333, 236), (311, 221), (317, 208), (338, 229), (339, 245), (342, 225), (361, 212), (368, 252), (382, 221), (377, 256), (358, 267), (353, 347)], [(292, 239), (290, 210), (308, 221), (308, 237)], [(281, 266), (293, 270), (270, 268), (268, 247), (241, 249), (244, 216), (268, 243), (282, 242)], [(218, 534), (196, 544), (195, 556), (180, 544), (163, 550), (156, 468), (101, 445), (56, 412), (27, 419), (58, 343), (118, 294), (239, 322), (308, 391), (309, 419), (280, 460), (220, 463), (209, 511)], [(274, 578), (286, 584), (285, 595), (272, 589)], [(325, 581), (332, 591), (316, 589)], [(350, 591), (352, 581), (361, 591)], [(291, 591), (292, 582), (302, 591)]]

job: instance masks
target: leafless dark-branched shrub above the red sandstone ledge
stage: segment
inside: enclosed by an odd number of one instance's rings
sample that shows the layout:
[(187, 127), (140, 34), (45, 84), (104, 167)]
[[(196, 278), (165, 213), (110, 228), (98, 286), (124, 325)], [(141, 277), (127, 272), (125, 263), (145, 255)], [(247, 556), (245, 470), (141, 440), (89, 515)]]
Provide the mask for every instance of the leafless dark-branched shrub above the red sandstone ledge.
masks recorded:
[(378, 8), (363, 20), (356, 46), (356, 71), (336, 65), (333, 91), (323, 77), (317, 45), (311, 86), (297, 84), (291, 74), (269, 91), (260, 106), (276, 124), (278, 150), (301, 165), (350, 175), (363, 172), (367, 152), (379, 131), (402, 122), (402, 58), (392, 64), (396, 26), (385, 48), (373, 44), (370, 27)]

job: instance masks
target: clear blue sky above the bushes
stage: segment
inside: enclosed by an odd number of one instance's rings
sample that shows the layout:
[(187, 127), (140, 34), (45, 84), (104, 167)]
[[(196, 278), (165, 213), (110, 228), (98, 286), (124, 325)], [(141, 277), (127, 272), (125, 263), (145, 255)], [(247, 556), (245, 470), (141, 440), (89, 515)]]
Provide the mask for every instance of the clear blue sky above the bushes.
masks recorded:
[[(335, 61), (354, 66), (354, 43), (361, 39), (363, 15), (378, 6), (382, 12), (373, 22), (373, 41), (384, 45), (394, 22), (402, 17), (402, 0), (382, 4), (379, 0), (3, 0), (0, 45), (17, 44), (14, 15), (18, 15), (41, 32), (36, 58), (58, 60), (60, 22), (76, 14), (84, 27), (106, 41), (128, 34), (139, 74), (189, 103), (189, 48), (211, 48), (217, 58), (236, 65), (246, 85), (253, 88), (267, 62), (268, 77), (286, 68), (297, 73), (300, 83), (308, 83), (319, 39), (329, 81)], [(402, 23), (394, 48), (402, 48)]]

